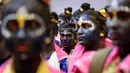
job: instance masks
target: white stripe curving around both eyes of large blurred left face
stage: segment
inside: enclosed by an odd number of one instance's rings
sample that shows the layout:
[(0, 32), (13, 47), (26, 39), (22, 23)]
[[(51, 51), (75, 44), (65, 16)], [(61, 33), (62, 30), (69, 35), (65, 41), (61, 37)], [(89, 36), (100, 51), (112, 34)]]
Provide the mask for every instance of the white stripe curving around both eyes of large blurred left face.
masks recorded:
[(32, 37), (40, 36), (40, 35), (42, 35), (43, 32), (45, 32), (46, 28), (45, 28), (44, 20), (35, 13), (28, 13), (27, 9), (24, 6), (22, 6), (19, 8), (19, 10), (16, 12), (16, 14), (9, 14), (3, 19), (1, 32), (5, 38), (11, 37), (11, 34), (12, 34), (9, 30), (6, 29), (8, 21), (17, 20), (17, 18), (19, 16), (24, 17), (25, 20), (36, 20), (39, 22), (39, 24), (41, 24), (41, 28), (29, 33), (29, 34), (33, 34)]

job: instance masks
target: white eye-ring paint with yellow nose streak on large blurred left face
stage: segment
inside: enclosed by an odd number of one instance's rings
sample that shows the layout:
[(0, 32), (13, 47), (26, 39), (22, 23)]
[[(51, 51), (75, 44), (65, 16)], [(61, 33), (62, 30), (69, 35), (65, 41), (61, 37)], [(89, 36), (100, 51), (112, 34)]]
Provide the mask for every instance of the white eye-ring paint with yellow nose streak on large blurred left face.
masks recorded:
[[(5, 38), (10, 38), (14, 33), (12, 33), (11, 31), (9, 31), (7, 29), (7, 23), (11, 20), (16, 20), (18, 21), (18, 25), (22, 25), (23, 28), (22, 30), (24, 30), (24, 26), (26, 25), (26, 21), (31, 21), (31, 20), (35, 20), (40, 24), (40, 28), (34, 31), (27, 31), (27, 33), (29, 34), (29, 36), (31, 37), (37, 37), (37, 36), (41, 36), (46, 28), (45, 28), (45, 22), (44, 20), (38, 16), (35, 13), (29, 13), (27, 8), (24, 6), (21, 6), (18, 11), (16, 12), (16, 14), (9, 14), (7, 15), (4, 20), (3, 20), (3, 26), (2, 26), (2, 34), (4, 35)], [(23, 23), (21, 24), (19, 21), (23, 20)], [(20, 27), (20, 26), (19, 26)]]

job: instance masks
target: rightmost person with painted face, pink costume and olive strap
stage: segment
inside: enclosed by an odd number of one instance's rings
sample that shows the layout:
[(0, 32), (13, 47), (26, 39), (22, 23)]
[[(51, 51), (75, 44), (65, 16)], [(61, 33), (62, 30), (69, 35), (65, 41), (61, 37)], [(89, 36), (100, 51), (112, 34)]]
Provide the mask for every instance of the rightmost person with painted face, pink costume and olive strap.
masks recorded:
[[(129, 73), (130, 72), (130, 1), (113, 0), (107, 18), (108, 33), (115, 46), (102, 49), (86, 57), (85, 61), (75, 63), (78, 73)], [(84, 58), (82, 57), (81, 60)], [(81, 69), (82, 67), (86, 70)], [(76, 71), (75, 71), (76, 72)]]

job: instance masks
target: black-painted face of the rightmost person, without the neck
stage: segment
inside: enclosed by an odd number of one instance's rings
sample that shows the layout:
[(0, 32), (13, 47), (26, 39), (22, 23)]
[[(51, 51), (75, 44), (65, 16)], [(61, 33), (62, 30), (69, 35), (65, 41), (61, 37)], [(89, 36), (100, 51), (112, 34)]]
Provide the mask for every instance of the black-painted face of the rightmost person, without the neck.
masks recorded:
[(108, 35), (116, 45), (126, 43), (121, 42), (121, 40), (123, 36), (127, 37), (129, 35), (126, 35), (126, 33), (129, 29), (130, 12), (127, 12), (126, 9), (128, 10), (129, 8), (127, 6), (120, 6), (116, 15), (114, 16), (114, 14), (111, 13), (111, 17), (107, 19)]

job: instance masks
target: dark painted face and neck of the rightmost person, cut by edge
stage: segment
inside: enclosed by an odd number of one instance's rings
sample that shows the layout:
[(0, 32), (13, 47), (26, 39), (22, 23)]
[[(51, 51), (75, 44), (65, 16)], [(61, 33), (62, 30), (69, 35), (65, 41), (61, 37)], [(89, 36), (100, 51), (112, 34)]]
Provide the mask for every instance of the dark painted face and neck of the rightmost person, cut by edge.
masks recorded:
[(124, 59), (130, 53), (130, 6), (129, 1), (123, 0), (116, 13), (111, 11), (111, 16), (107, 19), (109, 35), (114, 43), (119, 47), (119, 55)]

